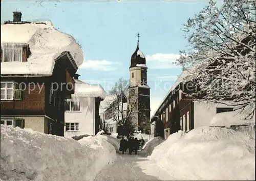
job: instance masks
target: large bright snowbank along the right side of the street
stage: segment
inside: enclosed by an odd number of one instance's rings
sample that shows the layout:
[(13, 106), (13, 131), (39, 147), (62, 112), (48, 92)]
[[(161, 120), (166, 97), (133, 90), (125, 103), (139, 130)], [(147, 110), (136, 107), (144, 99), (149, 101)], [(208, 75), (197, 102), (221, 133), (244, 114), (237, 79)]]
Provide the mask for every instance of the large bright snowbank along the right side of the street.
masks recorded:
[(179, 131), (148, 158), (178, 180), (255, 180), (255, 140), (229, 128)]

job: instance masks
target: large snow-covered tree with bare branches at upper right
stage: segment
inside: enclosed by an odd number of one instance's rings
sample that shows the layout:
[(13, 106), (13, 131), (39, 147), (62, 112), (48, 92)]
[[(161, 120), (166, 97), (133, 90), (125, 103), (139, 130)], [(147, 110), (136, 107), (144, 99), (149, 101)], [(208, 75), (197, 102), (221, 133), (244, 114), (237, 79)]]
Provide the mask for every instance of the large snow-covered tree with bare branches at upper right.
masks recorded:
[(184, 24), (189, 50), (177, 63), (194, 82), (191, 99), (250, 107), (255, 111), (255, 1), (209, 4)]

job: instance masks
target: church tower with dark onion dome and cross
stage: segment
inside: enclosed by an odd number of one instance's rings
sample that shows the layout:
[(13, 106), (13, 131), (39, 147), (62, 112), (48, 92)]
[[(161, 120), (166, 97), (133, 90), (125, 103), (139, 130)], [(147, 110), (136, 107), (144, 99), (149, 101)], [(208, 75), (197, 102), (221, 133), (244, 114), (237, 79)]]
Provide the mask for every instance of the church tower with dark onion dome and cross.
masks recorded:
[[(135, 93), (134, 102), (137, 104), (133, 122), (139, 131), (150, 134), (150, 86), (147, 85), (146, 58), (139, 49), (139, 33), (137, 36), (137, 48), (131, 57), (130, 66), (130, 91)], [(131, 106), (133, 103), (128, 104)]]

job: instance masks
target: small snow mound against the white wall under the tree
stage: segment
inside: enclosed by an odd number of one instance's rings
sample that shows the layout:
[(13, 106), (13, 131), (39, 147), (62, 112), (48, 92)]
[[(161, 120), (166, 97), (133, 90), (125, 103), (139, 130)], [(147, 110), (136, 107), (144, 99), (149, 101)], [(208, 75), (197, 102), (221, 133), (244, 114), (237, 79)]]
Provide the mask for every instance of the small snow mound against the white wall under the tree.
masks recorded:
[(239, 111), (221, 112), (210, 121), (210, 126), (226, 126), (255, 124), (255, 119), (245, 119)]

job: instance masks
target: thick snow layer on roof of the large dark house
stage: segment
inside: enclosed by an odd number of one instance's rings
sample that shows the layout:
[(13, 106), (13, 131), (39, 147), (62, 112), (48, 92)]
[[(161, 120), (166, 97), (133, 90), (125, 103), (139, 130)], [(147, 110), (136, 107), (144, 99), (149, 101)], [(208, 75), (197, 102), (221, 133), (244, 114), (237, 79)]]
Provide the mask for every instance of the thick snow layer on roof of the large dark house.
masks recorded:
[(1, 25), (1, 43), (27, 43), (31, 52), (27, 62), (2, 62), (1, 74), (52, 75), (55, 58), (65, 51), (70, 52), (77, 67), (83, 62), (76, 40), (55, 29), (51, 21)]

